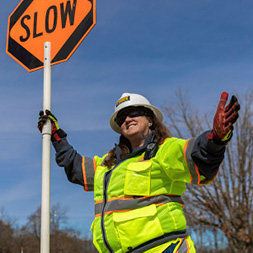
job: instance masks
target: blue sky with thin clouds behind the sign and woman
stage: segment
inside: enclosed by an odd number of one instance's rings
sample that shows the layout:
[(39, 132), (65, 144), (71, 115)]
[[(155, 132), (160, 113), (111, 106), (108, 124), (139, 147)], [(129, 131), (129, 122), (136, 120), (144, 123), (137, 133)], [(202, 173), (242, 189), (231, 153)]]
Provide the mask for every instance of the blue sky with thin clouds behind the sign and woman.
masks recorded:
[[(24, 224), (41, 202), (43, 70), (29, 73), (6, 54), (8, 16), (0, 9), (0, 208)], [(215, 110), (222, 91), (253, 83), (252, 0), (97, 0), (97, 24), (71, 58), (52, 67), (52, 111), (80, 154), (102, 156), (118, 141), (109, 126), (123, 92), (157, 107), (187, 89), (193, 104)], [(51, 204), (89, 232), (93, 195), (69, 183), (51, 151)]]

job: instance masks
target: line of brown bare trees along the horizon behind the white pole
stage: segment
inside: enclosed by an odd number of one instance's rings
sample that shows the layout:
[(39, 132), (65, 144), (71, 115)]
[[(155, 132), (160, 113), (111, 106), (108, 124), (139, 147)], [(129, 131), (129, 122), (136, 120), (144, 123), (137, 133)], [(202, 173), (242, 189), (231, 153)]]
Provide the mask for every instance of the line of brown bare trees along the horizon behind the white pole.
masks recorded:
[[(82, 236), (74, 228), (61, 228), (66, 221), (65, 214), (66, 211), (59, 205), (51, 209), (50, 252), (97, 252), (91, 238)], [(27, 223), (19, 228), (14, 220), (4, 215), (0, 219), (0, 253), (40, 252), (40, 216), (38, 208), (28, 217)]]

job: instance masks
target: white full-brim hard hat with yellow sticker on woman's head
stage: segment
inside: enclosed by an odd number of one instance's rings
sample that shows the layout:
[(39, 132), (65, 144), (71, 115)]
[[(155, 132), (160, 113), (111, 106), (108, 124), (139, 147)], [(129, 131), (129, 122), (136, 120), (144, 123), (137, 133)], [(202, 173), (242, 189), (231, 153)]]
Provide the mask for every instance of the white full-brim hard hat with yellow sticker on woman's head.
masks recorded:
[(121, 133), (121, 128), (116, 123), (115, 119), (120, 110), (130, 107), (130, 106), (136, 106), (136, 107), (143, 106), (145, 108), (148, 108), (154, 113), (154, 115), (160, 122), (162, 122), (163, 120), (163, 114), (161, 113), (161, 111), (155, 106), (151, 105), (150, 102), (145, 97), (139, 94), (134, 94), (134, 93), (123, 93), (120, 99), (117, 101), (114, 108), (114, 113), (110, 118), (111, 128), (119, 134)]

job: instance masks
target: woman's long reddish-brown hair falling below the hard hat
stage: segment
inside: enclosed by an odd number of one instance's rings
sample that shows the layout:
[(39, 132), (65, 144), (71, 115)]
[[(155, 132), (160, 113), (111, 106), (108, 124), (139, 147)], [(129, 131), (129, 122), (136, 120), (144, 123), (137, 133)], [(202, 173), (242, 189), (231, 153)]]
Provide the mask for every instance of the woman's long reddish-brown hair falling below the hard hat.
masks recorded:
[[(155, 141), (157, 143), (162, 143), (166, 138), (169, 137), (169, 132), (167, 127), (160, 122), (155, 116), (149, 117), (152, 120), (151, 130), (155, 130)], [(130, 141), (124, 136), (120, 135), (119, 144), (118, 146), (121, 148), (121, 158), (125, 157), (126, 155), (132, 152), (132, 147)], [(112, 167), (116, 164), (116, 156), (115, 156), (116, 148), (111, 149), (108, 152), (108, 156), (105, 159), (104, 165), (107, 167)]]

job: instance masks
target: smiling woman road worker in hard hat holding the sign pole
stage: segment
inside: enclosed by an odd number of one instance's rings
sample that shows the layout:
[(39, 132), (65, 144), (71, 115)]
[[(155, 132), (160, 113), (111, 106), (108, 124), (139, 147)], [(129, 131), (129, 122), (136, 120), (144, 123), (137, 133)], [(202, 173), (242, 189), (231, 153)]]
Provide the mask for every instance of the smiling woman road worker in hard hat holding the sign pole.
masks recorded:
[(70, 182), (94, 191), (93, 242), (99, 252), (195, 252), (181, 196), (186, 183), (204, 185), (216, 176), (238, 118), (236, 97), (222, 93), (213, 129), (195, 139), (169, 137), (160, 110), (143, 96), (124, 93), (110, 119), (119, 144), (103, 157), (78, 154), (46, 110), (56, 162)]

